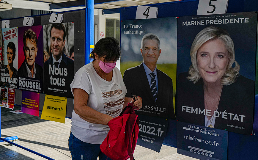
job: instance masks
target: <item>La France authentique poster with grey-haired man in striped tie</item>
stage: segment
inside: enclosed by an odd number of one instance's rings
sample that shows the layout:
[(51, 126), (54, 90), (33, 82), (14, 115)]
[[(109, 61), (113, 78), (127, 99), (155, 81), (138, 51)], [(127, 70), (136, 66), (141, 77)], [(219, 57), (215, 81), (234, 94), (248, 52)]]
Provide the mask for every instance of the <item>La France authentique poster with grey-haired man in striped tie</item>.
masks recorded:
[(121, 22), (120, 71), (126, 97), (142, 98), (136, 114), (175, 118), (176, 44), (174, 17)]

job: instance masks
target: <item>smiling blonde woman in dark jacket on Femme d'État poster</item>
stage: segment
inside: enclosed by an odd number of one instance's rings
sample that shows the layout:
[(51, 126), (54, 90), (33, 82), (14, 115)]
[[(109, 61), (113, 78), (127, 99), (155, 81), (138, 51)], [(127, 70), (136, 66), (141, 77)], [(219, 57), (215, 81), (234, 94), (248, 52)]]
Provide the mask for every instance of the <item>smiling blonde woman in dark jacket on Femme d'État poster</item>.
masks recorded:
[(215, 26), (204, 28), (196, 35), (190, 56), (189, 71), (177, 78), (177, 119), (249, 134), (254, 81), (239, 74), (240, 65), (235, 61), (229, 33)]

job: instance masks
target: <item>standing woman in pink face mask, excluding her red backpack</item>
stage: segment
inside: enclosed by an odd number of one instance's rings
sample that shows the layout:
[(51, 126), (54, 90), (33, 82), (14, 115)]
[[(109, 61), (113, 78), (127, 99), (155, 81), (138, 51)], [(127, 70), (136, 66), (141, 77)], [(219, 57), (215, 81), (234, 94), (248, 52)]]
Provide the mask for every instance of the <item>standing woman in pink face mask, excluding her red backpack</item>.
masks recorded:
[[(120, 57), (119, 42), (114, 37), (100, 39), (90, 54), (93, 60), (80, 68), (71, 83), (74, 95), (74, 110), (69, 138), (69, 150), (73, 160), (107, 159), (100, 151), (106, 138), (108, 122), (117, 117), (132, 101), (122, 75), (115, 67)], [(141, 98), (133, 104), (141, 108)]]

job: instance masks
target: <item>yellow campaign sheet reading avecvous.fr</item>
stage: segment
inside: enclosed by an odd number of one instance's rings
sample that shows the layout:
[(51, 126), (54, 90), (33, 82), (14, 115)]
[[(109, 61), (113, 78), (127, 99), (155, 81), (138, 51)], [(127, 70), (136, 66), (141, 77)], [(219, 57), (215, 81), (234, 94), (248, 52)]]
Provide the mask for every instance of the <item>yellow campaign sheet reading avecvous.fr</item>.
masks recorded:
[(64, 123), (67, 98), (46, 95), (41, 119)]

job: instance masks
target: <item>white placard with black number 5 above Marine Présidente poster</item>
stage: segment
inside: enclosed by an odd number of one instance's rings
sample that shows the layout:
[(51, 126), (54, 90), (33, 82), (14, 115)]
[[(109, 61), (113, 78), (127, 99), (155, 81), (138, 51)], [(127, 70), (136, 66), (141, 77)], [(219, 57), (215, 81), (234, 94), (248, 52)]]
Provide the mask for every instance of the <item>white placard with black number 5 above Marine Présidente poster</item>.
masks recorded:
[(199, 0), (197, 15), (226, 13), (228, 0)]

